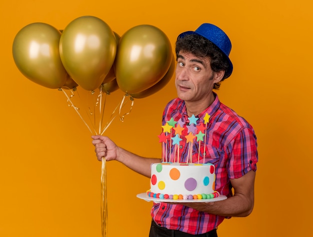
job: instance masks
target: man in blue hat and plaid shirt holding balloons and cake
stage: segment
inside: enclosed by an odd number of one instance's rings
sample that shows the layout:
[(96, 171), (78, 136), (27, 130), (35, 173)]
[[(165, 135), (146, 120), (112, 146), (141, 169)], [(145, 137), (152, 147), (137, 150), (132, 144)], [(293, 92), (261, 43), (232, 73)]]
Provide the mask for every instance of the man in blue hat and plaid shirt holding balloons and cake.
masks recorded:
[[(209, 115), (205, 156), (200, 162), (215, 166), (215, 190), (227, 199), (215, 202), (153, 203), (150, 237), (217, 236), (216, 228), (230, 216), (247, 216), (254, 203), (254, 178), (257, 162), (256, 137), (252, 127), (212, 92), (232, 73), (228, 56), (231, 44), (226, 34), (211, 24), (195, 32), (180, 34), (176, 41), (175, 86), (178, 98), (163, 112), (162, 125), (173, 118), (187, 125), (195, 116), (199, 123)], [(151, 163), (160, 159), (144, 158), (116, 146), (109, 138), (92, 136), (98, 160), (117, 160), (130, 169), (150, 177)], [(188, 144), (180, 143), (179, 162), (187, 162)], [(202, 149), (195, 142), (193, 149)], [(171, 152), (171, 151), (167, 151)], [(174, 153), (174, 152), (172, 152)], [(197, 152), (194, 152), (197, 153)], [(197, 161), (198, 155), (192, 159)], [(173, 161), (173, 154), (170, 157)], [(233, 188), (233, 193), (232, 189)]]

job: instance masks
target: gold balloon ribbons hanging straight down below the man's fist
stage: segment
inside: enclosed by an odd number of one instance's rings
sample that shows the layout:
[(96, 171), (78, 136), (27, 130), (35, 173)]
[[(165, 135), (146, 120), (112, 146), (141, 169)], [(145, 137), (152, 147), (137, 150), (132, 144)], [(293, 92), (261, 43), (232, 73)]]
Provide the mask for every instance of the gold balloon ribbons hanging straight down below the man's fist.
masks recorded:
[(107, 235), (107, 192), (106, 192), (106, 165), (105, 158), (102, 157), (102, 167), (101, 167), (101, 232), (102, 237)]

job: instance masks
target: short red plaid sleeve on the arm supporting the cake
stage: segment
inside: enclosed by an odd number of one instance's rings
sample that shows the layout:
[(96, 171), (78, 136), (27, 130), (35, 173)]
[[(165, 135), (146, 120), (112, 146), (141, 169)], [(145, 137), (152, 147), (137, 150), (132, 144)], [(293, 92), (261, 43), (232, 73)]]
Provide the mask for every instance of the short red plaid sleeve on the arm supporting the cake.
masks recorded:
[(228, 145), (228, 150), (227, 171), (230, 179), (240, 178), (250, 170), (256, 171), (257, 143), (252, 128), (239, 131)]

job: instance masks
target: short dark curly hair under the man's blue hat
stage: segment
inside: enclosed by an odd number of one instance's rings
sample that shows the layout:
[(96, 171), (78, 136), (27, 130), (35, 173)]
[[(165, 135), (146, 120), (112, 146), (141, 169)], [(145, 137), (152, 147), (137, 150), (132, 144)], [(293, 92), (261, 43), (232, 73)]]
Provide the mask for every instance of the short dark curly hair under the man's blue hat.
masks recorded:
[[(176, 41), (176, 59), (180, 51), (188, 52), (196, 57), (209, 57), (213, 72), (227, 71), (229, 64), (224, 54), (212, 42), (199, 35), (186, 35)], [(223, 78), (221, 81), (223, 81)], [(214, 83), (213, 89), (217, 90), (219, 83)]]

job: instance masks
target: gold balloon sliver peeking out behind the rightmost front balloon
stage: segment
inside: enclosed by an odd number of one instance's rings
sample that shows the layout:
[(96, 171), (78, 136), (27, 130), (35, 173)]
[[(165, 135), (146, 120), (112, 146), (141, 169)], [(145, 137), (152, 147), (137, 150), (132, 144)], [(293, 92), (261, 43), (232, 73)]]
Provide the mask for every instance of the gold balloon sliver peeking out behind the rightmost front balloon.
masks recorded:
[(170, 67), (169, 67), (167, 73), (165, 74), (165, 76), (159, 82), (157, 82), (155, 85), (151, 86), (150, 88), (148, 88), (144, 91), (140, 91), (140, 92), (135, 93), (135, 94), (130, 94), (130, 96), (132, 96), (133, 98), (141, 99), (141, 98), (150, 96), (150, 95), (154, 94), (155, 92), (158, 92), (160, 89), (162, 89), (164, 86), (166, 86), (166, 84), (172, 78), (174, 71), (175, 71), (175, 66), (176, 66), (176, 61), (175, 61), (174, 56), (172, 56)]

